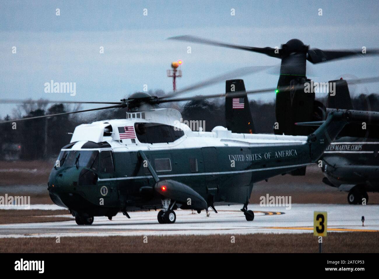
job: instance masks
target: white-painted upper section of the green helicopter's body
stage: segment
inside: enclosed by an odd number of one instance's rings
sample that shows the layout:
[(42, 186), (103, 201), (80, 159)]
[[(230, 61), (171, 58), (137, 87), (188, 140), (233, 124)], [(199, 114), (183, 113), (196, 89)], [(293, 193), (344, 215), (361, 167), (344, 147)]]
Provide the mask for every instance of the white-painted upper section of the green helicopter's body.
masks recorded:
[[(91, 124), (81, 124), (75, 128), (71, 138), (74, 146), (70, 150), (81, 149), (87, 141), (95, 143), (107, 142), (111, 148), (117, 151), (134, 151), (134, 150), (159, 150), (159, 149), (181, 149), (196, 148), (207, 146), (236, 146), (236, 147), (252, 147), (252, 146), (273, 146), (276, 144), (289, 145), (305, 144), (307, 136), (287, 136), (273, 134), (243, 134), (232, 133), (225, 127), (216, 126), (212, 132), (195, 132), (187, 125), (183, 124), (179, 111), (174, 109), (155, 109), (151, 111), (141, 111), (127, 113), (126, 119), (110, 119), (104, 121), (96, 121)], [(160, 123), (178, 127), (184, 131), (184, 136), (172, 143), (140, 143), (134, 130), (135, 123)], [(111, 136), (104, 135), (105, 130), (109, 130), (111, 126)], [(124, 128), (129, 129), (129, 136), (122, 134), (120, 131)], [(126, 129), (127, 130), (127, 129)], [(125, 131), (126, 132), (126, 131)]]

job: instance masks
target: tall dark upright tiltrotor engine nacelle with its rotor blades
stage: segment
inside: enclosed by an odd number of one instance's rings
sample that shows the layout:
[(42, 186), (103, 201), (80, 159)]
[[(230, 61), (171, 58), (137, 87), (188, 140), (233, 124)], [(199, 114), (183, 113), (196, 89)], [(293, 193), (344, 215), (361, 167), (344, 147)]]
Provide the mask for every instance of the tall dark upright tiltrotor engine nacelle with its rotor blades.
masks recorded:
[[(262, 53), (281, 60), (276, 92), (275, 115), (279, 124), (274, 133), (277, 135), (309, 135), (313, 127), (294, 125), (296, 122), (321, 121), (325, 111), (322, 102), (315, 100), (315, 93), (304, 94), (305, 82), (311, 82), (306, 76), (306, 62), (312, 64), (352, 56), (378, 55), (379, 49), (364, 50), (321, 50), (310, 48), (299, 39), (290, 39), (281, 47), (250, 47), (199, 38), (191, 35), (179, 35), (167, 38), (175, 41), (215, 45), (231, 49)], [(276, 67), (275, 67), (276, 68)], [(277, 72), (277, 69), (275, 69)], [(287, 89), (291, 90), (287, 90)], [(286, 90), (283, 90), (286, 89)], [(296, 109), (294, 109), (296, 108)], [(252, 129), (254, 130), (254, 129)], [(304, 169), (305, 173), (305, 169)]]

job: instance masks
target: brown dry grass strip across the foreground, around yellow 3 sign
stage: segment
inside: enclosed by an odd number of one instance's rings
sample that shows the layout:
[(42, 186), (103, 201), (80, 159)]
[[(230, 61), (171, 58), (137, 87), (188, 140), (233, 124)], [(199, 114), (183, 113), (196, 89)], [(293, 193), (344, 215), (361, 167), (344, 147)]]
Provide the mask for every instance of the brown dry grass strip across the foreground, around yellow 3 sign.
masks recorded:
[[(379, 233), (328, 233), (323, 252), (379, 252)], [(0, 252), (318, 252), (313, 234), (0, 238)]]

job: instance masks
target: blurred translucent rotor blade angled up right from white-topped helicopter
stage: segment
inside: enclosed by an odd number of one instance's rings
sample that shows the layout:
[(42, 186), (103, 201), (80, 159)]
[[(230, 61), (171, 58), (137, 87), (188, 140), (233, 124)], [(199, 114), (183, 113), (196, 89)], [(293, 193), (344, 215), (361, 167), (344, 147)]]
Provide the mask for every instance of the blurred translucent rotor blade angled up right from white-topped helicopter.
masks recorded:
[(178, 96), (179, 94), (182, 94), (182, 93), (185, 93), (185, 92), (188, 92), (191, 90), (204, 88), (206, 86), (209, 86), (209, 85), (212, 85), (212, 84), (224, 81), (224, 80), (242, 77), (242, 76), (247, 75), (247, 74), (253, 74), (255, 72), (263, 71), (263, 70), (268, 69), (270, 67), (276, 67), (276, 66), (247, 66), (247, 67), (238, 68), (238, 69), (235, 69), (233, 71), (227, 72), (225, 74), (218, 75), (218, 76), (210, 78), (208, 80), (187, 86), (181, 90), (171, 92), (164, 97), (160, 97), (160, 99), (166, 99), (166, 98)]

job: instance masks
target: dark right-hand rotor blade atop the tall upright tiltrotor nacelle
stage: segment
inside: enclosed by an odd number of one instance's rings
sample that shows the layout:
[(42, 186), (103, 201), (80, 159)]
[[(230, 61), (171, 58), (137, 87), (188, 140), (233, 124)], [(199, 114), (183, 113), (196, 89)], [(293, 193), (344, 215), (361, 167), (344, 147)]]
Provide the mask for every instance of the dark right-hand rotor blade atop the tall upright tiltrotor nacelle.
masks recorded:
[(348, 56), (365, 56), (365, 55), (377, 55), (379, 49), (367, 49), (366, 53), (362, 53), (362, 50), (321, 50), (321, 49), (309, 49), (307, 60), (313, 64), (322, 63), (339, 58), (345, 58)]

